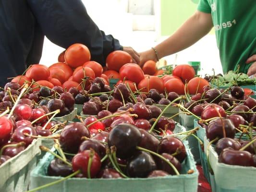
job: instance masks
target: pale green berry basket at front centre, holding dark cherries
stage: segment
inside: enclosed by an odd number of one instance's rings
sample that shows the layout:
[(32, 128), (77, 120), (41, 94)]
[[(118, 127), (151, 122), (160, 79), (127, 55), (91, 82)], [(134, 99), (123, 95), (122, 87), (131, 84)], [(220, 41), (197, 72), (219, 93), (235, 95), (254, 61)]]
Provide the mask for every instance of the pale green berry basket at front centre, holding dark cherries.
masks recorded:
[[(40, 192), (197, 192), (198, 171), (187, 141), (184, 141), (184, 144), (187, 157), (183, 161), (183, 168), (179, 176), (129, 179), (70, 178), (44, 188)], [(54, 156), (47, 153), (32, 171), (30, 189), (61, 179), (61, 177), (47, 176), (47, 168), (53, 158)], [(193, 169), (194, 173), (187, 174), (189, 169)]]

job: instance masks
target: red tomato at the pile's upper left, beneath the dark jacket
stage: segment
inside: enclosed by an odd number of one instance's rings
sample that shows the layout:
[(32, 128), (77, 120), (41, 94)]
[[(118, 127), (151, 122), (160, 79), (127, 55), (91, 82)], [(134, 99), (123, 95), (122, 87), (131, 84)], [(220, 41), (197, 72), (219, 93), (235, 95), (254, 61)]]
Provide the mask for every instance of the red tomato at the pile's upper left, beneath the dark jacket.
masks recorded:
[(35, 81), (46, 80), (50, 76), (50, 70), (45, 65), (34, 64), (26, 71), (26, 76)]

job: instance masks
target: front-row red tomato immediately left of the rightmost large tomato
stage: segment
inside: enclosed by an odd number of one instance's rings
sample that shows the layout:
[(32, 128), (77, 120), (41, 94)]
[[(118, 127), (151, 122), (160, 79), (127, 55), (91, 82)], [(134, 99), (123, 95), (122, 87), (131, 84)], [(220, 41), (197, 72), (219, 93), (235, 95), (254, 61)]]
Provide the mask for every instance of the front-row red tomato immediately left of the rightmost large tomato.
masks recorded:
[(164, 87), (166, 88), (166, 91), (168, 93), (175, 92), (175, 93), (177, 93), (179, 95), (185, 94), (185, 92), (184, 92), (185, 85), (179, 79), (170, 79), (170, 80), (168, 80), (164, 84)]

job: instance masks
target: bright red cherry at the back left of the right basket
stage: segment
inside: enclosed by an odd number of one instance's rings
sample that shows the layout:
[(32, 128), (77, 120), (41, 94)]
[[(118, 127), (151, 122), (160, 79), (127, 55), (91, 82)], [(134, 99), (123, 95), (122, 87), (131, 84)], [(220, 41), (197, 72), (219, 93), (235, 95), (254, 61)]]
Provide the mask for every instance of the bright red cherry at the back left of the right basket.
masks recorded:
[(206, 108), (204, 108), (204, 110), (202, 111), (201, 113), (202, 120), (219, 117), (219, 114), (217, 111), (219, 111), (221, 117), (226, 117), (226, 112), (222, 107), (220, 107), (217, 104), (210, 104)]

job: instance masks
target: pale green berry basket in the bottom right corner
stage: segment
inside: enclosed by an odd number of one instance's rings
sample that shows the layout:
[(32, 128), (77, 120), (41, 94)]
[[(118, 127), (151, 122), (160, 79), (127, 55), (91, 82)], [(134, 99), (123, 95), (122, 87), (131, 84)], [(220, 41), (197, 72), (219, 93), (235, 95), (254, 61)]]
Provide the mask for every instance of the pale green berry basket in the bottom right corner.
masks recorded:
[[(205, 144), (208, 140), (205, 137)], [(256, 168), (219, 163), (214, 146), (209, 147), (209, 163), (214, 173), (213, 192), (255, 192)]]

